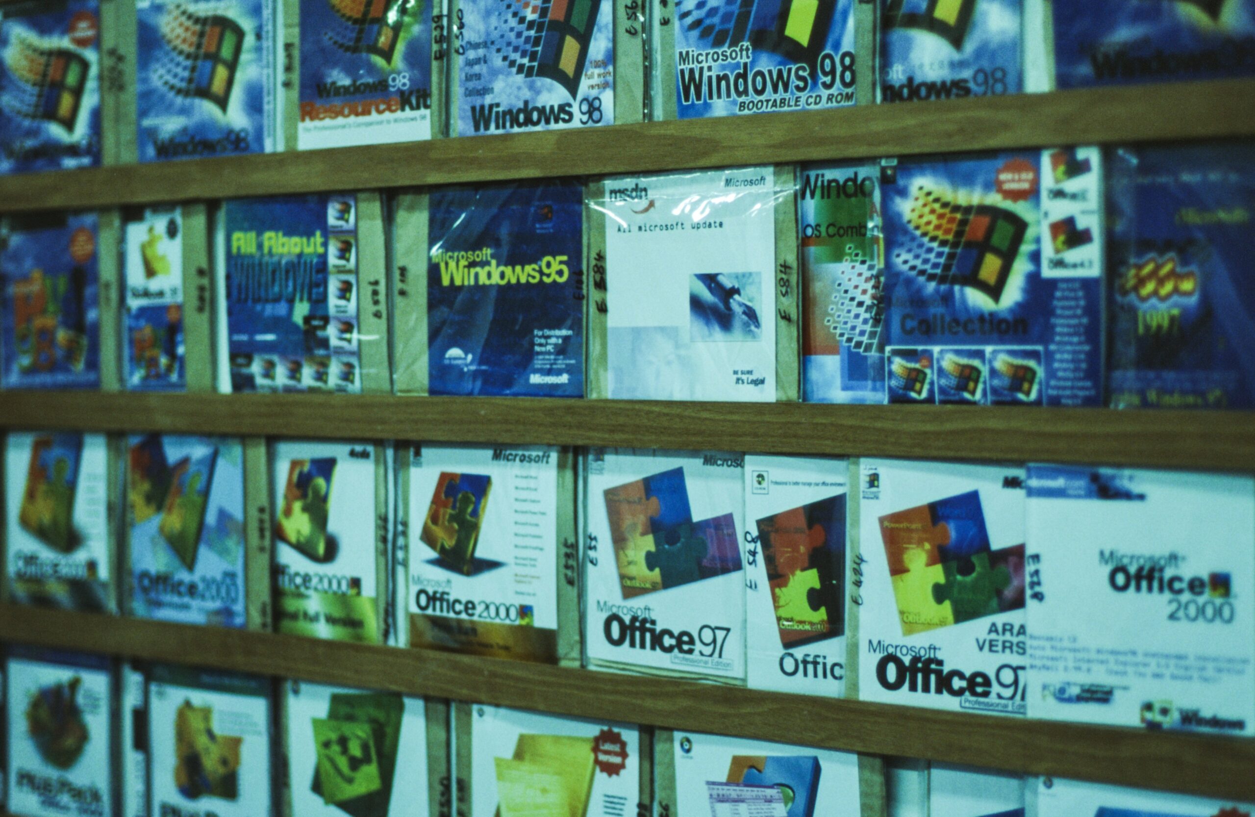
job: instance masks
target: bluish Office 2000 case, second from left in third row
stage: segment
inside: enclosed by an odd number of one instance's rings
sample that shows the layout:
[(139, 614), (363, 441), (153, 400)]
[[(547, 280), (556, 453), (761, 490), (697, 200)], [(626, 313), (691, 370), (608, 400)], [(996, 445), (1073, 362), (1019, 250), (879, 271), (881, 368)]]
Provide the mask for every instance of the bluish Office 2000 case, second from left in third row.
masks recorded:
[(127, 612), (260, 629), (270, 561), (246, 543), (242, 443), (134, 434), (128, 444)]

